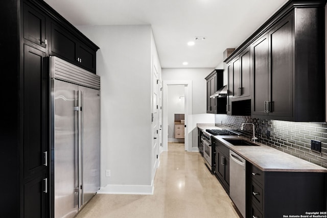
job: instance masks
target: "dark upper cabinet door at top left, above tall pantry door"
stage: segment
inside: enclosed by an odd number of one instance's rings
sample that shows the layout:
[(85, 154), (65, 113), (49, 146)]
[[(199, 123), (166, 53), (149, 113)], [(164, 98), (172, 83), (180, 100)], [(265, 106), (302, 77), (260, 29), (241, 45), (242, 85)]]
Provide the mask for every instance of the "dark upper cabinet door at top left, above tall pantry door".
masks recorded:
[(24, 38), (45, 47), (45, 16), (24, 4)]

